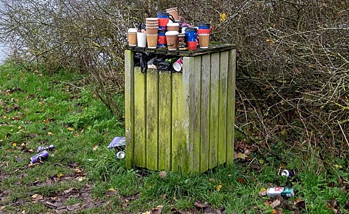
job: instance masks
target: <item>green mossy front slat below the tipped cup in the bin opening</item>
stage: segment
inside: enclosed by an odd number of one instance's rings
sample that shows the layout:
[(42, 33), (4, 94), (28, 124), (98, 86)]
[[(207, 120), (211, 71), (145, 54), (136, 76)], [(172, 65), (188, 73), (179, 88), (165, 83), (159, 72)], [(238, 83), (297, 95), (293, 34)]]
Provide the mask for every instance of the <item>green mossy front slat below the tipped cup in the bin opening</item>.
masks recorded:
[[(184, 102), (187, 89), (182, 83), (182, 73), (172, 73), (172, 167), (171, 171), (180, 172), (187, 167), (188, 117), (185, 114)], [(185, 96), (184, 96), (185, 95)], [(185, 165), (185, 166), (183, 166)]]

